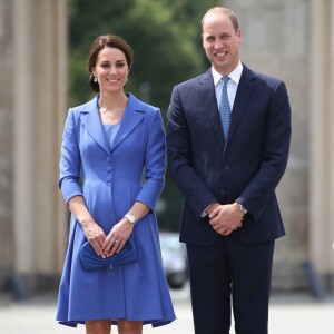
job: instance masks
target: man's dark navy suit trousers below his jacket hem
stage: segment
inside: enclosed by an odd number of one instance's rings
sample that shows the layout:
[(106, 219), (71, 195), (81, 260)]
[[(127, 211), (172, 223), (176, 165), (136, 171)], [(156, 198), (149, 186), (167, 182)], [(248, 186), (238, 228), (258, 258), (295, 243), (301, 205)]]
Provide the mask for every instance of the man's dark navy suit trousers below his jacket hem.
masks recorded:
[(267, 334), (275, 240), (243, 244), (224, 237), (209, 247), (187, 245), (196, 334)]

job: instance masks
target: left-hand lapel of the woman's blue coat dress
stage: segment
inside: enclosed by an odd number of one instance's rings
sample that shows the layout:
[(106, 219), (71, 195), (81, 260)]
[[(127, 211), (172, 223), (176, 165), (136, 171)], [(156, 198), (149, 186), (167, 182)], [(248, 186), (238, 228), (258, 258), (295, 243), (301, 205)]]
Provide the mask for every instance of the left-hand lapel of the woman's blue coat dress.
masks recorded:
[(107, 143), (105, 129), (101, 122), (99, 109), (97, 106), (98, 96), (91, 101), (82, 106), (82, 124), (86, 127), (89, 135), (107, 153), (110, 154), (110, 149)]

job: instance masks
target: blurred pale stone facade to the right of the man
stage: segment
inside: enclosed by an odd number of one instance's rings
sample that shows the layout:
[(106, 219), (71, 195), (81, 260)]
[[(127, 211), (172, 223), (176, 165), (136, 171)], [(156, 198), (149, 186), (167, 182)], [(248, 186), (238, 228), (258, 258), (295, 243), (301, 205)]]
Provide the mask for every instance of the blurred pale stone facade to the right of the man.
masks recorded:
[(276, 243), (273, 287), (333, 289), (334, 1), (220, 2), (238, 14), (242, 60), (283, 79), (291, 99), (291, 156), (277, 189), (287, 235)]

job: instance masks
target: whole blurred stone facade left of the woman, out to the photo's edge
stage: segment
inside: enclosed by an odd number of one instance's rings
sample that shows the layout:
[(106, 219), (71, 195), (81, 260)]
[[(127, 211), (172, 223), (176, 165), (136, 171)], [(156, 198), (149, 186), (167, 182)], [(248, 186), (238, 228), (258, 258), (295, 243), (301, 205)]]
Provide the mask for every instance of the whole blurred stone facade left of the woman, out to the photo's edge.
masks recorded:
[(67, 244), (67, 1), (1, 0), (0, 45), (0, 283), (24, 297), (56, 286)]

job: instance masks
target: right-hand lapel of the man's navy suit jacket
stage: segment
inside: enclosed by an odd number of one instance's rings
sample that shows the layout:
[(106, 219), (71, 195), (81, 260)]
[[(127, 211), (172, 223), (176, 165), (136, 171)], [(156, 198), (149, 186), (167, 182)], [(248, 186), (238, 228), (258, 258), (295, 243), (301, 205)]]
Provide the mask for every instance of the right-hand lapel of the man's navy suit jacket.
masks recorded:
[(237, 88), (237, 92), (234, 100), (234, 106), (230, 116), (230, 125), (228, 130), (227, 145), (230, 141), (233, 135), (235, 134), (238, 121), (240, 120), (242, 115), (245, 112), (248, 99), (252, 95), (253, 89), (255, 88), (254, 73), (244, 65), (243, 73), (240, 81)]

